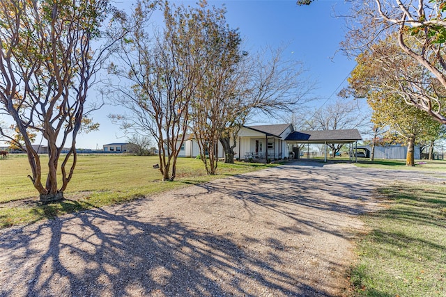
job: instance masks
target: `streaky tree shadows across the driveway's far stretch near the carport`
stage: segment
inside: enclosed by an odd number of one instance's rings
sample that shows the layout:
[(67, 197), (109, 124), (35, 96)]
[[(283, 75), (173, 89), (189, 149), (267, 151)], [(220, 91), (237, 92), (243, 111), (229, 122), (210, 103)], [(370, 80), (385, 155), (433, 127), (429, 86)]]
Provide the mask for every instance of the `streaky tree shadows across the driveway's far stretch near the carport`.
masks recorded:
[[(275, 168), (274, 170), (283, 170)], [(373, 187), (364, 188), (361, 183), (347, 183), (327, 170), (302, 169), (290, 170), (289, 177), (283, 175), (256, 175), (256, 172), (240, 175), (236, 179), (224, 179), (222, 182), (199, 184), (206, 193), (221, 193), (244, 201), (248, 213), (252, 213), (252, 204), (268, 209), (271, 214), (282, 215), (316, 230), (341, 237), (351, 234), (339, 227), (337, 222), (324, 220), (324, 214), (355, 216), (370, 211), (367, 202), (374, 200)], [(300, 179), (302, 172), (310, 175)], [(318, 211), (320, 218), (309, 218), (306, 211)], [(339, 223), (339, 222), (338, 222)], [(279, 227), (284, 231), (284, 227)], [(290, 230), (291, 232), (291, 230)], [(292, 230), (305, 233), (305, 230)]]

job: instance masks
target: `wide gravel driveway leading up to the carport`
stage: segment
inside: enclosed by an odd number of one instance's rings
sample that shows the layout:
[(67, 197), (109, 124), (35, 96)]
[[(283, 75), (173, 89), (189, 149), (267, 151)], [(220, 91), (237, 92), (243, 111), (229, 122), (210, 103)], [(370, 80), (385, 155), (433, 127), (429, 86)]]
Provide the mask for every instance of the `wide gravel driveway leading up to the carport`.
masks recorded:
[(357, 215), (413, 171), (289, 163), (0, 230), (0, 296), (339, 296)]

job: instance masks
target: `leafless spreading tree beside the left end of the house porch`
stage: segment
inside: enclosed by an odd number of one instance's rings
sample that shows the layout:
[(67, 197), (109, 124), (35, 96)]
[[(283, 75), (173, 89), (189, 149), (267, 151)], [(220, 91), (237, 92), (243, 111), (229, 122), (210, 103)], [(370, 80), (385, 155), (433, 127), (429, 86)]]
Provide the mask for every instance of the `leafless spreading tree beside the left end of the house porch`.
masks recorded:
[(238, 87), (226, 106), (231, 112), (220, 137), (225, 162), (233, 163), (240, 128), (254, 115), (293, 111), (309, 100), (314, 83), (304, 77), (302, 63), (286, 61), (283, 49), (264, 49), (238, 63)]

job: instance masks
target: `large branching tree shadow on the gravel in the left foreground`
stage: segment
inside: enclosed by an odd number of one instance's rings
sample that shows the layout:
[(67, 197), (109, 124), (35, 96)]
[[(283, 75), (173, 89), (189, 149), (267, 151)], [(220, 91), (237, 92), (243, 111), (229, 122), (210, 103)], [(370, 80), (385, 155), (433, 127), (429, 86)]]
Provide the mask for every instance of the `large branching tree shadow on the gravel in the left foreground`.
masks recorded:
[(278, 269), (274, 249), (266, 261), (229, 236), (129, 207), (3, 230), (0, 250), (0, 296), (328, 296)]

